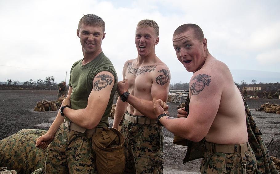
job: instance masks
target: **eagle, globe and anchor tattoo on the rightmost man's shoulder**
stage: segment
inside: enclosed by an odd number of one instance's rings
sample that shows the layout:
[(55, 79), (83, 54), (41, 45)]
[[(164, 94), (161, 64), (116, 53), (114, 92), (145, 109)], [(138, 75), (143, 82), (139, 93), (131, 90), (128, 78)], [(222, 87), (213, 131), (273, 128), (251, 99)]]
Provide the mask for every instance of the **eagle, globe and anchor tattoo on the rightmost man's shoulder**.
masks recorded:
[[(205, 85), (209, 86), (211, 79), (208, 77), (211, 77), (211, 76), (206, 75), (206, 74), (202, 74), (202, 75), (198, 74), (197, 76), (195, 76), (192, 80), (197, 79), (197, 81), (194, 82), (190, 87), (191, 94), (198, 95), (198, 93), (204, 89)], [(204, 79), (202, 79), (202, 78), (204, 78)]]

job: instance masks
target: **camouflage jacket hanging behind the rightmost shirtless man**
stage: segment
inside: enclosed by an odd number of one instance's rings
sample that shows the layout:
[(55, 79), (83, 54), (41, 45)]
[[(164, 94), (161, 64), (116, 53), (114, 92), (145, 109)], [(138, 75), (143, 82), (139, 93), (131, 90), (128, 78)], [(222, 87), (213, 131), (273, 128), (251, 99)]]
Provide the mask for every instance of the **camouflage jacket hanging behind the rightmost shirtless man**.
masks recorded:
[[(248, 132), (248, 142), (251, 146), (252, 151), (255, 154), (256, 160), (257, 160), (257, 173), (264, 174), (264, 173), (272, 173), (272, 174), (278, 174), (274, 163), (268, 153), (268, 150), (266, 149), (266, 146), (262, 140), (262, 133), (257, 127), (255, 120), (251, 114), (251, 111), (244, 99), (244, 106), (246, 111), (246, 124), (247, 124), (247, 132)], [(189, 97), (187, 98), (189, 100)], [(189, 102), (186, 100), (186, 103)], [(188, 149), (186, 156), (183, 160), (183, 163), (186, 163), (188, 161), (202, 158), (203, 153), (205, 150), (203, 147), (203, 140), (200, 142), (187, 142)]]

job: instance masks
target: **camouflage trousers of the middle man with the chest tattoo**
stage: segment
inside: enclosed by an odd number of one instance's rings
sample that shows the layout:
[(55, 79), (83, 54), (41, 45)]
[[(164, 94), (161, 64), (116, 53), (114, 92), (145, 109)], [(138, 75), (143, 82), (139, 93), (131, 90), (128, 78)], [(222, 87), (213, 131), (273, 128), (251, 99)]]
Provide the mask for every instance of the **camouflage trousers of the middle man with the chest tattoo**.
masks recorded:
[(125, 173), (163, 173), (163, 131), (158, 124), (137, 124), (124, 120)]

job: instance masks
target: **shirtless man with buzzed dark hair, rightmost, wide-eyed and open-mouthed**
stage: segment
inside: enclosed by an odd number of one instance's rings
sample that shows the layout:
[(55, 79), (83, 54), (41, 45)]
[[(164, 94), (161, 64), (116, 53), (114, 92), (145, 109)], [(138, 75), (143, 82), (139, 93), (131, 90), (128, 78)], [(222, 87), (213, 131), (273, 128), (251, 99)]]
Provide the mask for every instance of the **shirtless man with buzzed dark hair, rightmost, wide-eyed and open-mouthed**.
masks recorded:
[[(229, 170), (238, 173), (245, 168), (242, 168), (245, 163), (246, 170), (254, 169), (251, 171), (254, 173), (256, 159), (247, 143), (244, 103), (229, 68), (210, 55), (207, 40), (198, 25), (178, 27), (173, 45), (178, 60), (187, 71), (194, 73), (190, 80), (189, 113), (182, 108), (178, 109), (180, 118), (166, 116), (159, 99), (154, 104), (158, 123), (193, 142), (205, 138), (207, 150), (201, 162), (201, 173)], [(238, 162), (234, 166), (235, 156)]]

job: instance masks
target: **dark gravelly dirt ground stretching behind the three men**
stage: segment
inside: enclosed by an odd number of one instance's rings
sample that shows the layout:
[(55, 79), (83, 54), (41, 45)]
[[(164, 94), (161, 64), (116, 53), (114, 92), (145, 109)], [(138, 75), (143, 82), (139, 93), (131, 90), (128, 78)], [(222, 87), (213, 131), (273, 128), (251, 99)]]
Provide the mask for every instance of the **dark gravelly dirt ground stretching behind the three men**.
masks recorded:
[[(58, 111), (35, 112), (36, 103), (56, 100), (57, 91), (47, 90), (0, 90), (0, 140), (21, 129), (48, 130)], [(257, 112), (265, 102), (280, 103), (278, 99), (248, 99), (254, 119), (262, 131), (262, 138), (267, 145), (271, 138), (274, 141), (268, 147), (270, 155), (280, 158), (280, 115)], [(168, 103), (170, 116), (176, 117), (178, 103)], [(113, 119), (110, 119), (112, 126)], [(165, 173), (199, 173), (200, 159), (182, 164), (186, 154), (186, 147), (173, 144), (174, 135), (164, 128), (164, 172)]]

